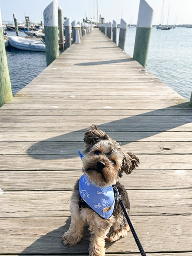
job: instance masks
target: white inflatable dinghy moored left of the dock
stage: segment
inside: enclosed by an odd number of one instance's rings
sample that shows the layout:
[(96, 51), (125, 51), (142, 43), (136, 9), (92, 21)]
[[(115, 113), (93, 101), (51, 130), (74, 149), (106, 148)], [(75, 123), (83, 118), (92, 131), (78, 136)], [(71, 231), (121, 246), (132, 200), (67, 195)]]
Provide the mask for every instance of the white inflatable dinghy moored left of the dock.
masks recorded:
[(9, 37), (12, 47), (25, 51), (45, 52), (45, 44), (41, 41), (26, 39), (24, 37)]

